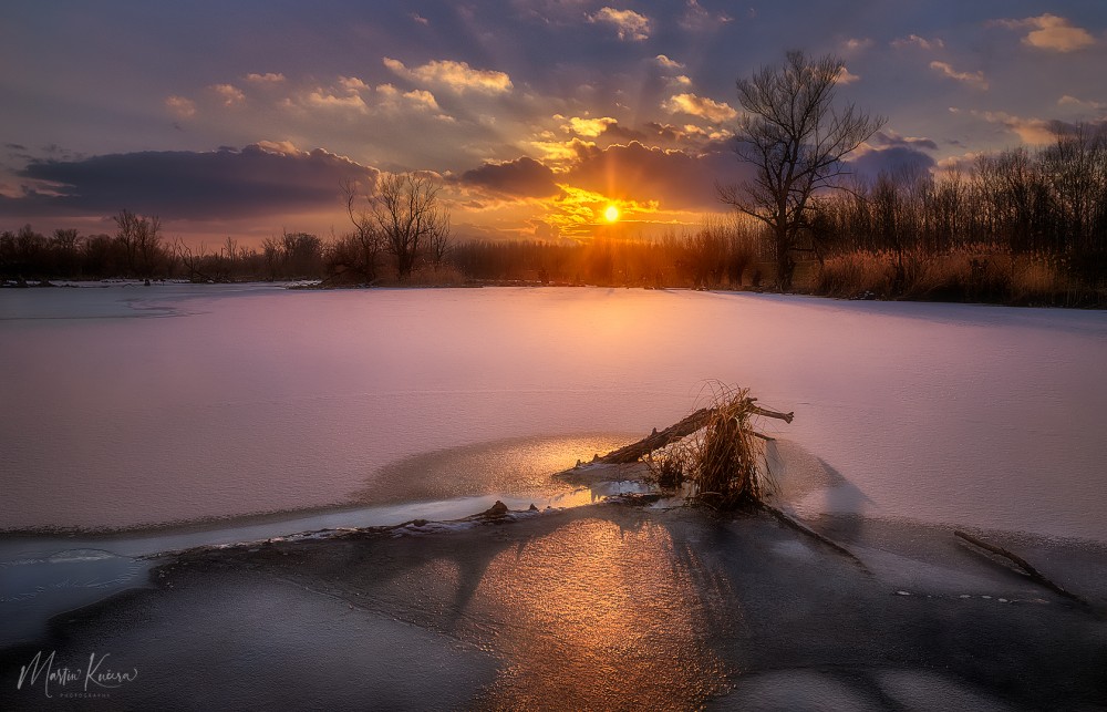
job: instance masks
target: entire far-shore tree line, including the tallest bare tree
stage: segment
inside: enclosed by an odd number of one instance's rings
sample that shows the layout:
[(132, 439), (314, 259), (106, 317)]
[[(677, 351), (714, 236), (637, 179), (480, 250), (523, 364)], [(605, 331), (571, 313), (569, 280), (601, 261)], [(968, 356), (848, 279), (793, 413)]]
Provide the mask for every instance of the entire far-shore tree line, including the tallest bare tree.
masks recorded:
[(655, 239), (458, 243), (424, 173), (341, 186), (350, 230), (283, 233), (260, 249), (167, 244), (156, 217), (122, 210), (114, 235), (0, 234), (0, 278), (156, 276), (340, 283), (467, 280), (767, 287), (838, 297), (1107, 303), (1107, 124), (1054, 126), (1053, 144), (937, 174), (861, 180), (850, 153), (884, 118), (836, 101), (834, 55), (788, 52), (737, 81), (735, 153), (754, 177), (720, 185), (733, 208)]

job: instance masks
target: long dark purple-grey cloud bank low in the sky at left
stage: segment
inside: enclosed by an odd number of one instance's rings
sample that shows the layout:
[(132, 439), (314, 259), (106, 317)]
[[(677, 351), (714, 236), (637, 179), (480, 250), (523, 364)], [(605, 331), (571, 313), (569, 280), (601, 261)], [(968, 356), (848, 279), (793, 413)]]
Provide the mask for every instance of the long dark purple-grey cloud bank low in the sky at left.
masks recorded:
[(251, 144), (241, 151), (141, 152), (34, 161), (18, 172), (24, 196), (8, 215), (107, 215), (128, 208), (163, 218), (240, 218), (325, 209), (340, 185), (371, 185), (375, 168), (322, 149)]

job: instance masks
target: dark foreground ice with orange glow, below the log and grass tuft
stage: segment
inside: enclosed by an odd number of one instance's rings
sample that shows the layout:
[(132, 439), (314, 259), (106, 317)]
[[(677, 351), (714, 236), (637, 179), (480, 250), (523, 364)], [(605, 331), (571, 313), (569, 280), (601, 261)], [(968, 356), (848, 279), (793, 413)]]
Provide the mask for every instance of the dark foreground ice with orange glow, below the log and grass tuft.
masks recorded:
[[(1083, 570), (1065, 582), (1084, 610), (929, 525), (811, 523), (865, 572), (756, 513), (597, 504), (465, 524), (178, 553), (152, 588), (0, 651), (0, 702), (51, 702), (41, 681), (7, 684), (37, 650), (95, 649), (139, 671), (113, 692), (126, 708), (1107, 703), (1105, 547), (1024, 553)], [(296, 683), (278, 672), (291, 661), (309, 668)]]

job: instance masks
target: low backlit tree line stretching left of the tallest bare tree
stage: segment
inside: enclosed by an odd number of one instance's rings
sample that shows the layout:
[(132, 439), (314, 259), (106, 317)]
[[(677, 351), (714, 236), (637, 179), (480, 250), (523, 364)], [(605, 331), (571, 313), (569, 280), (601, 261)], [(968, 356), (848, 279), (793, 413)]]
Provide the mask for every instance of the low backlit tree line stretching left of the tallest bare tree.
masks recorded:
[(122, 210), (115, 221), (120, 228), (114, 235), (58, 229), (48, 236), (30, 225), (0, 233), (0, 279), (9, 286), (106, 278), (692, 288), (759, 286), (763, 279), (761, 229), (734, 220), (705, 220), (697, 229), (670, 230), (655, 239), (599, 238), (588, 244), (454, 241), (436, 233), (434, 239), (408, 244), (405, 250), (396, 250), (366, 226), (329, 238), (284, 231), (266, 238), (260, 248), (240, 246), (231, 237), (216, 248), (195, 248), (166, 240), (157, 218)]

